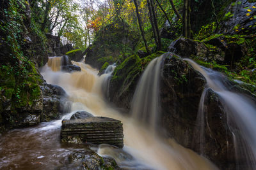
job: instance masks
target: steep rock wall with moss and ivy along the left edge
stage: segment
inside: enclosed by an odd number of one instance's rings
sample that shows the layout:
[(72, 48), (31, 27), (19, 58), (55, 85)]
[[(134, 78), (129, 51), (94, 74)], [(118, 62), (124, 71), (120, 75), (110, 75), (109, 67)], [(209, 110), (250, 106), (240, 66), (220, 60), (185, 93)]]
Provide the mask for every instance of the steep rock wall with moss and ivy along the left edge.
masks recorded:
[[(38, 71), (47, 63), (47, 45), (28, 1), (4, 0), (0, 21), (0, 133), (60, 117), (61, 95)], [(55, 106), (55, 116), (45, 116), (51, 115), (45, 104)]]

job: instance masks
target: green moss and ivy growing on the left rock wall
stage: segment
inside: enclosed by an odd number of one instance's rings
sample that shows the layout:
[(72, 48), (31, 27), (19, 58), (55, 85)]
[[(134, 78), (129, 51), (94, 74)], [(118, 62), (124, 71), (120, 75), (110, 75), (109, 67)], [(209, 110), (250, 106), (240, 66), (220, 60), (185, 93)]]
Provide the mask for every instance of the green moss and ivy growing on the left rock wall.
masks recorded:
[[(34, 51), (31, 49), (33, 44), (30, 44), (28, 38), (28, 35), (41, 32), (38, 31), (35, 20), (31, 18), (30, 24), (26, 16), (27, 1), (5, 2), (8, 4), (0, 10), (3, 12), (1, 13), (3, 20), (0, 22), (0, 38), (4, 40), (1, 41), (3, 44), (0, 49), (7, 53), (7, 55), (1, 53), (0, 59), (0, 113), (10, 106), (10, 112), (15, 115), (21, 114), (20, 110), (24, 108), (29, 110), (36, 101), (42, 99), (39, 87), (42, 80), (35, 65), (31, 62), (31, 55)], [(8, 121), (12, 125), (15, 124), (13, 119)]]

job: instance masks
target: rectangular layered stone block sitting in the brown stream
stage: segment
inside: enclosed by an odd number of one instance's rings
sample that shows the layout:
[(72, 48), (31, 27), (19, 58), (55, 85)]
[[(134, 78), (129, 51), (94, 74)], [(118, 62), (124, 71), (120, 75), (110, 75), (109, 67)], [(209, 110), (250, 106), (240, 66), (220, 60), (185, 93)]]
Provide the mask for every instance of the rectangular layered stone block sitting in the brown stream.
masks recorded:
[(107, 117), (89, 117), (63, 120), (61, 142), (94, 143), (124, 146), (123, 126), (120, 120)]

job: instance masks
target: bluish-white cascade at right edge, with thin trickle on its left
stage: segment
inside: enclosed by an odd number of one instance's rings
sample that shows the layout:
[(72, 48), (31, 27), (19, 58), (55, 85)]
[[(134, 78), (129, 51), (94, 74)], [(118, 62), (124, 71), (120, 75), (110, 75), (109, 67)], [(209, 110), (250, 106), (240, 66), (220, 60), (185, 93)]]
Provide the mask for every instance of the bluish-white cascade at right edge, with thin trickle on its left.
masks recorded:
[[(256, 101), (249, 96), (230, 92), (225, 84), (228, 80), (223, 74), (201, 67), (191, 59), (184, 60), (202, 73), (207, 80), (207, 88), (211, 88), (220, 96), (229, 128), (234, 137), (237, 160), (245, 157), (243, 160), (246, 161), (244, 162), (247, 165), (246, 168), (256, 169)], [(200, 122), (198, 124), (204, 124), (204, 97), (205, 93), (202, 94), (200, 101), (198, 110), (198, 121)], [(204, 125), (200, 125), (200, 127), (204, 127)], [(203, 129), (200, 131), (202, 132)], [(203, 134), (200, 134), (200, 140), (204, 140)], [(202, 152), (203, 147), (200, 146)], [(237, 164), (237, 169), (241, 168)]]

